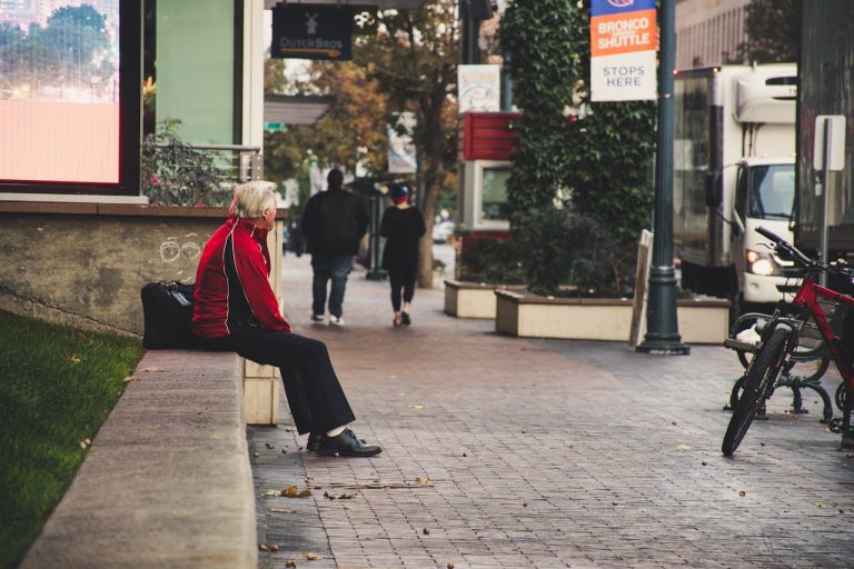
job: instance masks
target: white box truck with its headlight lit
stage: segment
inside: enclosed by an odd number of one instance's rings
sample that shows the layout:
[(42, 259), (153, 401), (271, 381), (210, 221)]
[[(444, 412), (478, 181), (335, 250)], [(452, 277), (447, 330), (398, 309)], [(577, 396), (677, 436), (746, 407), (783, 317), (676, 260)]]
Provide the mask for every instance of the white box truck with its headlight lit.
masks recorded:
[(678, 72), (674, 123), (674, 252), (682, 286), (744, 302), (776, 302), (784, 261), (754, 231), (792, 240), (794, 64)]

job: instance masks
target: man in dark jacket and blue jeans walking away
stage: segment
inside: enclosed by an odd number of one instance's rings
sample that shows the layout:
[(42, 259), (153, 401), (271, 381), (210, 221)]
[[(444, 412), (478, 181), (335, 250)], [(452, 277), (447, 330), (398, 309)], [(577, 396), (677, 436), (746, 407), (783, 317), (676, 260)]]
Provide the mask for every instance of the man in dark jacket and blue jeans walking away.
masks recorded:
[(316, 193), (302, 213), (302, 236), (311, 253), (311, 320), (322, 322), (329, 288), (329, 323), (344, 326), (344, 292), (359, 252), (359, 240), (368, 229), (368, 207), (342, 188), (344, 174), (332, 169), (326, 177), (328, 189)]

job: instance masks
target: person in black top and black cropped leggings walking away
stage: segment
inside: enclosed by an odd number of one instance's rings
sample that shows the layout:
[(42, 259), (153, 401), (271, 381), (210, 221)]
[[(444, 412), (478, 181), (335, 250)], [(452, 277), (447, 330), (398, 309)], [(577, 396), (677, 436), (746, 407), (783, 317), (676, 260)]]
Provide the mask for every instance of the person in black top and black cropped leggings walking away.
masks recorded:
[(395, 328), (411, 323), (410, 310), (415, 278), (418, 274), (418, 243), (426, 231), (424, 216), (418, 208), (409, 206), (407, 193), (405, 186), (391, 187), (389, 194), (395, 204), (383, 213), (379, 226), (379, 234), (386, 238), (383, 268), (388, 271), (391, 283)]

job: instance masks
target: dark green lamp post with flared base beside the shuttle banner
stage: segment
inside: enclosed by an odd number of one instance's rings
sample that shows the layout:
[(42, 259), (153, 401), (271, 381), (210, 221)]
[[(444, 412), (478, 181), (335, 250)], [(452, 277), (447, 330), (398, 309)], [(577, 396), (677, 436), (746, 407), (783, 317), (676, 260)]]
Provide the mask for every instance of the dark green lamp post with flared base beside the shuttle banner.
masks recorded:
[(676, 270), (673, 267), (673, 70), (675, 0), (662, 0), (658, 52), (658, 131), (655, 153), (653, 267), (644, 353), (685, 355), (676, 321)]

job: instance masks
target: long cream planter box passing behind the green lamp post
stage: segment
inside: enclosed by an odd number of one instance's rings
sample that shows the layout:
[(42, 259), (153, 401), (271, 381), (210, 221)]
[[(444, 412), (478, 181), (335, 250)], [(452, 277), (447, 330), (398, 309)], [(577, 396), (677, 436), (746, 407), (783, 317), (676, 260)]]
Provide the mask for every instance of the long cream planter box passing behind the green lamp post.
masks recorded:
[[(496, 290), (495, 329), (526, 338), (628, 341), (632, 300), (547, 298)], [(723, 343), (729, 329), (726, 300), (681, 300), (682, 341)]]

